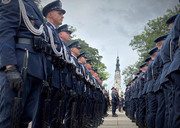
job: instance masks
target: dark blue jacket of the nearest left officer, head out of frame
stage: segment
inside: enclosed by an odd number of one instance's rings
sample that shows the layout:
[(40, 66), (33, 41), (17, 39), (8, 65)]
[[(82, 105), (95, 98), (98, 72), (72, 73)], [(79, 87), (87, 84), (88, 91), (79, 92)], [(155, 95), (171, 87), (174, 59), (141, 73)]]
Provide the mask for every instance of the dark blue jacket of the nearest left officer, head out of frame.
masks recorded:
[[(35, 28), (44, 22), (41, 12), (33, 0), (24, 0), (27, 16)], [(20, 18), (18, 0), (8, 4), (0, 3), (0, 69), (6, 65), (17, 65), (19, 71), (23, 66), (25, 48), (29, 51), (28, 74), (44, 79), (46, 61), (43, 53), (37, 52), (29, 44), (18, 44), (18, 38), (33, 39), (33, 35)], [(2, 27), (3, 26), (3, 27)]]

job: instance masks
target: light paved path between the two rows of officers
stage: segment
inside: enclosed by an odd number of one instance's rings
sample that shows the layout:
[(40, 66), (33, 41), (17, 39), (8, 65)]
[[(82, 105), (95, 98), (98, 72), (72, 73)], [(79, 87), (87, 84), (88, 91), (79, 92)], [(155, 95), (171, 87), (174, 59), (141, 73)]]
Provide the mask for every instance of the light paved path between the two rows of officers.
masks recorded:
[(108, 114), (109, 116), (104, 119), (103, 125), (98, 128), (138, 128), (124, 113), (117, 112), (118, 117), (112, 117), (110, 111)]

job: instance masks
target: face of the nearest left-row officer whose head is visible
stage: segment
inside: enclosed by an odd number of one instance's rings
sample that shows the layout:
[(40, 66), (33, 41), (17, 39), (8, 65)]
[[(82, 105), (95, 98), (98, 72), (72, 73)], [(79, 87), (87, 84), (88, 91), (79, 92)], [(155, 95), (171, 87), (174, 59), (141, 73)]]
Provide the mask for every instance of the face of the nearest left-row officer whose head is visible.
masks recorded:
[(57, 27), (62, 24), (64, 16), (61, 11), (54, 10), (50, 12), (50, 18), (53, 20), (54, 25)]

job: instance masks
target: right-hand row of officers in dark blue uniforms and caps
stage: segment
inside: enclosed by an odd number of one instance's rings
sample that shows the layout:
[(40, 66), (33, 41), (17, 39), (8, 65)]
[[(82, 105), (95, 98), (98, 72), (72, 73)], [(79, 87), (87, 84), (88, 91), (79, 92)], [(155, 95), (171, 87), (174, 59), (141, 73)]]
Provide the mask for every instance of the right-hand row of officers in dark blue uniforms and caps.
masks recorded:
[(180, 127), (180, 14), (166, 24), (170, 33), (154, 40), (156, 47), (126, 88), (126, 115), (139, 128)]

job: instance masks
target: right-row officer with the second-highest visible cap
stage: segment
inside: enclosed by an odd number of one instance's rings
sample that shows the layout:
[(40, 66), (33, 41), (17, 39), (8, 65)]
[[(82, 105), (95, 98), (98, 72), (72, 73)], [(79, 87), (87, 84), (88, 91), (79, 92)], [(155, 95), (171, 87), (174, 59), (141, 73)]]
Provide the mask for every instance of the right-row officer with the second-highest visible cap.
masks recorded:
[(154, 59), (154, 66), (153, 66), (153, 78), (156, 81), (153, 90), (157, 99), (157, 112), (155, 119), (156, 128), (164, 128), (165, 98), (164, 98), (163, 88), (160, 86), (160, 77), (163, 68), (163, 62), (160, 56), (160, 49), (166, 37), (167, 35), (164, 35), (154, 40), (156, 46), (158, 47), (158, 53), (156, 55), (156, 58)]

